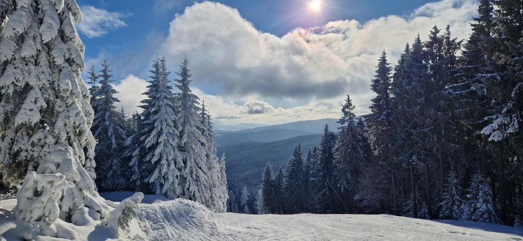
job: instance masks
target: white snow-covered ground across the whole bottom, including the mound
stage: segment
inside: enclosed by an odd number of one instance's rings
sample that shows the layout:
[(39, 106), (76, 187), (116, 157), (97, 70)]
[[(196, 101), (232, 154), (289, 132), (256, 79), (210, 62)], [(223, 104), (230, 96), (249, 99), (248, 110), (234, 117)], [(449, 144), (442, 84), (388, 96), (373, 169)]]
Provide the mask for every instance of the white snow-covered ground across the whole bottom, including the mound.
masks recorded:
[[(101, 194), (121, 201), (132, 192)], [(16, 199), (0, 201), (0, 224)], [(64, 225), (70, 225), (65, 224)], [(71, 225), (73, 226), (73, 225)], [(110, 233), (99, 223), (75, 226), (79, 240), (107, 240)], [(17, 239), (16, 229), (2, 235)], [(523, 229), (504, 225), (430, 221), (392, 215), (297, 214), (247, 215), (211, 213), (199, 203), (145, 195), (138, 220), (120, 240), (523, 240)], [(42, 237), (39, 240), (59, 240)], [(63, 240), (63, 239), (61, 239)]]

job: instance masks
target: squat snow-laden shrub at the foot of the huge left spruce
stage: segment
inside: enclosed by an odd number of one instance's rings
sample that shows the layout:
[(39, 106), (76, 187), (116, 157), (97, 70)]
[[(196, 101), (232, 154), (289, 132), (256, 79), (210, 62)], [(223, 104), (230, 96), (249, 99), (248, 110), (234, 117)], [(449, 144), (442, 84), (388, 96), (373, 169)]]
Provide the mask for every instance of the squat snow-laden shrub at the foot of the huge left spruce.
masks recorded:
[(27, 173), (24, 185), (18, 190), (16, 197), (14, 211), (17, 221), (27, 222), (32, 229), (40, 231), (43, 235), (55, 236), (56, 229), (53, 223), (60, 214), (60, 198), (66, 188), (73, 186), (60, 173)]

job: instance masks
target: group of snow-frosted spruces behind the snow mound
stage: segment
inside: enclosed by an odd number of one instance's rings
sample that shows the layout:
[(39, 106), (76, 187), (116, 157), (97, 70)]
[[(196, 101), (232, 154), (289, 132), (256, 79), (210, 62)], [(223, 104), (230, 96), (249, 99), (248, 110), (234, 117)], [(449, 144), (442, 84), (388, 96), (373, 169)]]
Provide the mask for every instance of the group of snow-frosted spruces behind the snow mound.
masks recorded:
[[(170, 81), (165, 58), (153, 61), (141, 113), (118, 109), (118, 92), (106, 60), (99, 73), (88, 71), (90, 130), (96, 139), (94, 171), (99, 191), (131, 190), (168, 199), (198, 201), (224, 212), (228, 199), (225, 161), (216, 155), (211, 116), (191, 93), (189, 61), (184, 59)], [(173, 86), (178, 90), (173, 91)]]

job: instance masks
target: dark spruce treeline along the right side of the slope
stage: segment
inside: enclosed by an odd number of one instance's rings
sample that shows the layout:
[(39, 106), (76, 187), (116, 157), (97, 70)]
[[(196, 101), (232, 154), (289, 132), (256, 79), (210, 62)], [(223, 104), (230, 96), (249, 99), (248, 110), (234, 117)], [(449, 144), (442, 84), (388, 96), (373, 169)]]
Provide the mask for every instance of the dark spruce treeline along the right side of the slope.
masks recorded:
[(383, 52), (370, 114), (357, 118), (347, 98), (337, 134), (325, 127), (305, 160), (297, 147), (282, 180), (268, 164), (259, 212), (521, 225), (522, 10), (482, 0), (467, 41), (435, 26), (394, 68)]

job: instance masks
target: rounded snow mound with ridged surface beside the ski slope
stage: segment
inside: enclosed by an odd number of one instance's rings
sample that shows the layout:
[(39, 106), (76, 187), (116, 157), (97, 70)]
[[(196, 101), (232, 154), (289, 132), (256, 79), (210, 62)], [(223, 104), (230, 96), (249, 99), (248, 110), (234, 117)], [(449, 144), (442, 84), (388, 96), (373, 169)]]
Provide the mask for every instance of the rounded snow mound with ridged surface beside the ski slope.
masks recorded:
[(229, 233), (205, 206), (186, 199), (140, 204), (138, 224), (147, 240), (220, 240)]

